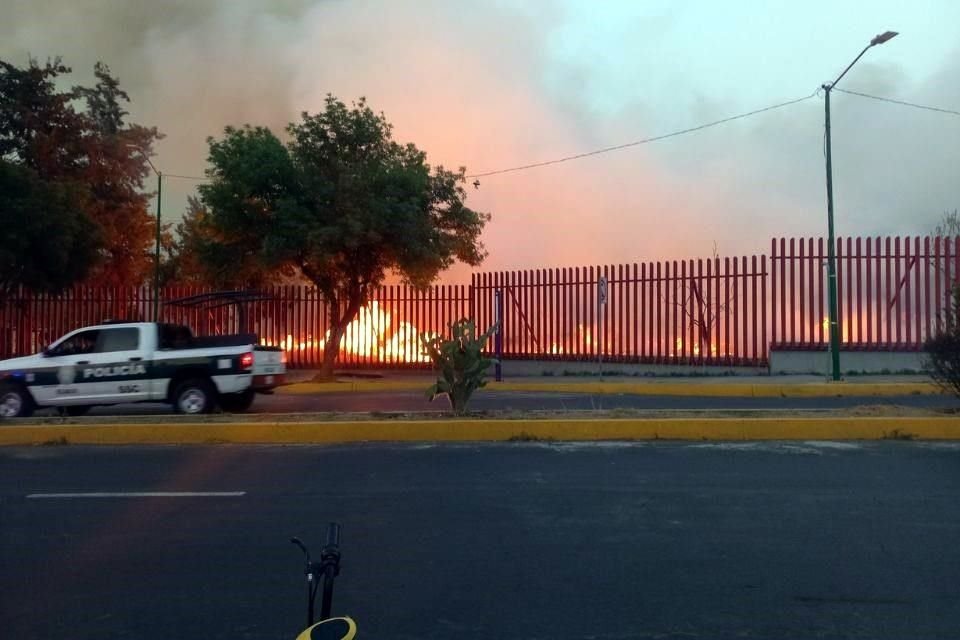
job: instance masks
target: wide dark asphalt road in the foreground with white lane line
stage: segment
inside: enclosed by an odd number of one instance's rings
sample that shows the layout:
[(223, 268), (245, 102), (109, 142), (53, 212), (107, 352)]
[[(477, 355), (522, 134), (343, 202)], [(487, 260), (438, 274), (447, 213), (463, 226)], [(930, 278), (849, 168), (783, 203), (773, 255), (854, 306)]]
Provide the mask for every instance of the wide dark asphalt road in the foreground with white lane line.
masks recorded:
[[(960, 637), (960, 445), (0, 449), (9, 638)], [(220, 492), (89, 497), (79, 492)]]

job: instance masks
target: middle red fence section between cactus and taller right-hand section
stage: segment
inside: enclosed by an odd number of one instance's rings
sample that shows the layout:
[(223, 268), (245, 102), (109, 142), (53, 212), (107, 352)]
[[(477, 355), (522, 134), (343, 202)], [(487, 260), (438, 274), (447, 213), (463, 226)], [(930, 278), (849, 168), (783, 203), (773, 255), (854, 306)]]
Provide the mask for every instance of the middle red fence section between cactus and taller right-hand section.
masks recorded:
[(502, 291), (505, 358), (760, 364), (766, 276), (744, 256), (480, 274), (473, 290), (481, 327)]

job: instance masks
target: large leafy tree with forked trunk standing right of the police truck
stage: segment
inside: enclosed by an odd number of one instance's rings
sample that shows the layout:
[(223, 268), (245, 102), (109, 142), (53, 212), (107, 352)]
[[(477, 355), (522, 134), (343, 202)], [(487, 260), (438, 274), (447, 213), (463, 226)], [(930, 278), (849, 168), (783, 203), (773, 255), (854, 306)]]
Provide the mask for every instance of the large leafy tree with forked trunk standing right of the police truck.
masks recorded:
[(340, 339), (390, 272), (426, 286), (455, 260), (477, 265), (490, 216), (464, 204), (465, 169), (431, 167), (413, 144), (360, 99), (327, 96), (325, 109), (287, 127), (288, 144), (263, 127), (227, 128), (210, 139), (210, 183), (200, 187), (203, 229), (242, 273), (301, 273), (322, 292), (329, 327), (322, 374)]

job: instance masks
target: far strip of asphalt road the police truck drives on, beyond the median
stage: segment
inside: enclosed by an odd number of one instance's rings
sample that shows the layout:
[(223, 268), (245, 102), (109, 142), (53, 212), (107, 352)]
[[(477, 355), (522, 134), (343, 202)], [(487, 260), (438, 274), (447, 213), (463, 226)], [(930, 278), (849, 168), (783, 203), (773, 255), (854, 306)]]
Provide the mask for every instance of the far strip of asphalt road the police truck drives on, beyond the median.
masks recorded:
[[(947, 395), (906, 395), (890, 397), (820, 398), (730, 398), (691, 396), (647, 396), (580, 394), (555, 392), (480, 391), (470, 401), (477, 411), (553, 410), (584, 411), (611, 409), (838, 409), (863, 405), (887, 405), (922, 408), (960, 408), (960, 399)], [(443, 412), (449, 411), (446, 398), (427, 401), (420, 391), (377, 391), (316, 393), (309, 395), (260, 395), (251, 413), (302, 412)], [(169, 414), (165, 404), (144, 403), (115, 407), (96, 407), (90, 415)], [(37, 412), (52, 415), (52, 410)]]

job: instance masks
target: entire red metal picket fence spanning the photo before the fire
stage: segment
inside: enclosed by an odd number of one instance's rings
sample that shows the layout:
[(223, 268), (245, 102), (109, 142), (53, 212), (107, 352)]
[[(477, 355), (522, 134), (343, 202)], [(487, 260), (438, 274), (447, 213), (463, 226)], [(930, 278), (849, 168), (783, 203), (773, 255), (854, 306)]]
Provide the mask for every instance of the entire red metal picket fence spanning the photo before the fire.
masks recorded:
[[(839, 322), (847, 348), (920, 349), (941, 326), (960, 275), (960, 237), (837, 240)], [(505, 358), (753, 365), (770, 346), (827, 342), (822, 239), (774, 239), (769, 256), (644, 262), (475, 274), (469, 286), (382, 287), (347, 328), (340, 366), (427, 366), (424, 333), (461, 317), (483, 330), (500, 292)], [(607, 302), (598, 282), (607, 280)], [(170, 301), (201, 293), (169, 288)], [(273, 287), (245, 306), (246, 330), (288, 352), (291, 367), (322, 360), (328, 310), (312, 287)], [(77, 288), (18, 295), (0, 306), (0, 357), (33, 353), (107, 318), (148, 319), (149, 289)], [(161, 320), (204, 334), (239, 329), (236, 307), (165, 304)]]

